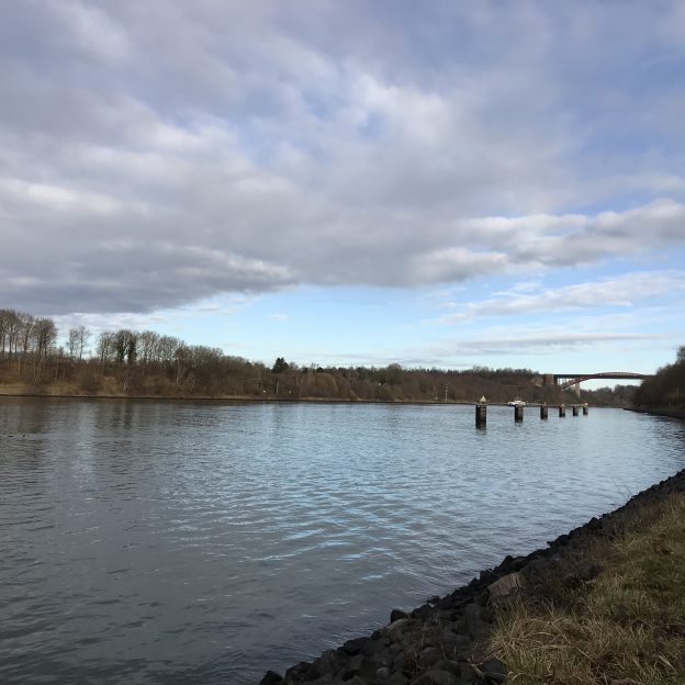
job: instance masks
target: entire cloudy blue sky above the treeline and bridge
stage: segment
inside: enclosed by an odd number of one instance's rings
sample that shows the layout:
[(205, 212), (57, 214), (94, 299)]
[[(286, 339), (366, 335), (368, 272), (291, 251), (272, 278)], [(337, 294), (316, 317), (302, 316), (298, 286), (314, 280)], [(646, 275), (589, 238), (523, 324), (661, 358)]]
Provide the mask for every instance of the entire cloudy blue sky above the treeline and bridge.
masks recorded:
[(684, 305), (680, 0), (2, 2), (0, 307), (651, 373)]

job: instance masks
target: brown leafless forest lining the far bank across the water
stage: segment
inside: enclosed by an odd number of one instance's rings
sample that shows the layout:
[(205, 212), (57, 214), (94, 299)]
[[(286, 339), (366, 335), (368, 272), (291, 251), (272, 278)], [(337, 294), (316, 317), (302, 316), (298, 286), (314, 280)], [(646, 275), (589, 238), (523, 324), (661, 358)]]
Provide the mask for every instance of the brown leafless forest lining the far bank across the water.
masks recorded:
[[(86, 327), (63, 338), (50, 318), (0, 310), (0, 392), (137, 397), (332, 400), (367, 402), (490, 402), (514, 397), (550, 404), (577, 397), (529, 369), (464, 370), (273, 364), (187, 345), (154, 330)], [(635, 386), (583, 391), (583, 402), (627, 406)]]

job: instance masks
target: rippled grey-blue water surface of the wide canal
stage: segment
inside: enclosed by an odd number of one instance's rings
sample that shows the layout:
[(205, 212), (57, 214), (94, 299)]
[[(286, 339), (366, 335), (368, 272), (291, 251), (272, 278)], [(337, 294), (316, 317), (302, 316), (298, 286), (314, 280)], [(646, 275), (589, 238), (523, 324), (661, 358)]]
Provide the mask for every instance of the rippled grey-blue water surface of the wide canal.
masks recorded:
[(552, 414), (0, 398), (0, 683), (257, 683), (685, 467)]

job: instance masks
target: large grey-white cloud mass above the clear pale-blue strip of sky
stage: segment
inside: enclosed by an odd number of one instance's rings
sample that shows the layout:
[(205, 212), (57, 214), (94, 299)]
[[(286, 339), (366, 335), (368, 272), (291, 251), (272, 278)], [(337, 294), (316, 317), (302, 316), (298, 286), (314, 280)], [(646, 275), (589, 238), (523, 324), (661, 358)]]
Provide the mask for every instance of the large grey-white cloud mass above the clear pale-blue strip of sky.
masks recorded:
[(13, 3), (5, 301), (149, 312), (680, 249), (676, 22), (677, 2)]

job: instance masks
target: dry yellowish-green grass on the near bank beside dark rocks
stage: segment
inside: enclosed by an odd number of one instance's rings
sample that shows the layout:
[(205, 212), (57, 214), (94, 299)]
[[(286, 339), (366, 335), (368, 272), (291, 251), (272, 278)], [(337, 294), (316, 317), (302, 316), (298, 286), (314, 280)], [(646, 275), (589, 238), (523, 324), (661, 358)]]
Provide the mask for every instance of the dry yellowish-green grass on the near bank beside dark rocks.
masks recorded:
[(492, 648), (508, 682), (684, 685), (685, 495), (641, 509), (582, 563), (598, 564), (599, 575), (550, 579), (552, 592), (499, 610)]

